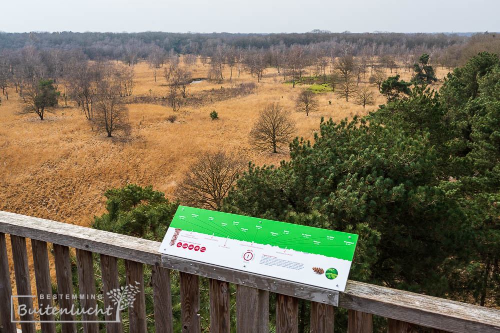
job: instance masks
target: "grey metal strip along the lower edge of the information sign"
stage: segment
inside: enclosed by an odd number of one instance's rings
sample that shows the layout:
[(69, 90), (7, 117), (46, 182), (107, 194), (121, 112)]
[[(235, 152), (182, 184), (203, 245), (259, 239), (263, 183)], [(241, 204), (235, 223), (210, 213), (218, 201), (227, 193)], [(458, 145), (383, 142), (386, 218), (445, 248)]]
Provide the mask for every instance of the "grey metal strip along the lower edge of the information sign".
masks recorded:
[(297, 297), (318, 303), (338, 306), (338, 292), (296, 282), (269, 278), (263, 275), (229, 269), (221, 266), (161, 255), (161, 267), (226, 281), (241, 286), (267, 290), (277, 294)]

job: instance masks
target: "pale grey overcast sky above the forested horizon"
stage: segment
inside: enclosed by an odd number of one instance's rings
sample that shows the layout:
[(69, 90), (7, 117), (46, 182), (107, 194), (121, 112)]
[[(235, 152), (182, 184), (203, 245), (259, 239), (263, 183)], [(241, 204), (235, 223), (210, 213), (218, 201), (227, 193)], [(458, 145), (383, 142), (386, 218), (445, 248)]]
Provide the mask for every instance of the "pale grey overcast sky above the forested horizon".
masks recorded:
[(500, 0), (0, 0), (0, 31), (500, 31)]

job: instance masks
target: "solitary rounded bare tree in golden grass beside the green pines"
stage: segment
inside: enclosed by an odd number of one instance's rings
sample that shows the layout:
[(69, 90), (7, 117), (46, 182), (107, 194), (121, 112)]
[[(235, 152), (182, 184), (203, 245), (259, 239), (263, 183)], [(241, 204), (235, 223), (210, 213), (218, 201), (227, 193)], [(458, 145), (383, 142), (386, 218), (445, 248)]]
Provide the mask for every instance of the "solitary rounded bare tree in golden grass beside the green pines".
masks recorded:
[(277, 149), (290, 142), (294, 133), (295, 123), (290, 119), (290, 113), (279, 104), (271, 103), (260, 111), (250, 131), (250, 139), (256, 150), (272, 149), (277, 153)]

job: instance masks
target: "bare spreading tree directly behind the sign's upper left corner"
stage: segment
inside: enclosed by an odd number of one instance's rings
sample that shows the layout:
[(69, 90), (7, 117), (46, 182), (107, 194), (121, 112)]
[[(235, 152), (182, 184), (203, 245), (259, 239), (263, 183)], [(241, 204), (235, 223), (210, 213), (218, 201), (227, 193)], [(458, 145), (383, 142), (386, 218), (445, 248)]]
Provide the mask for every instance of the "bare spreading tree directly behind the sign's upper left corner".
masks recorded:
[(179, 184), (178, 197), (189, 206), (219, 210), (222, 200), (245, 167), (246, 161), (232, 153), (202, 154)]

